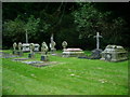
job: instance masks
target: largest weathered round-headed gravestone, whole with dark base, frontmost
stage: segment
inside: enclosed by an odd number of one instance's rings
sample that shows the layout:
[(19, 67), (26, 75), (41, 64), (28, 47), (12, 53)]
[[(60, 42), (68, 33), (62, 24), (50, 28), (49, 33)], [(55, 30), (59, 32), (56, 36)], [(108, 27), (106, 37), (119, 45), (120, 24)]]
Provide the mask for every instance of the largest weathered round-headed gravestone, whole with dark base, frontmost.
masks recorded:
[(41, 44), (41, 60), (44, 60), (44, 61), (49, 60), (48, 55), (47, 55), (48, 50), (49, 50), (49, 48), (48, 48), (47, 43), (43, 42), (43, 43)]

